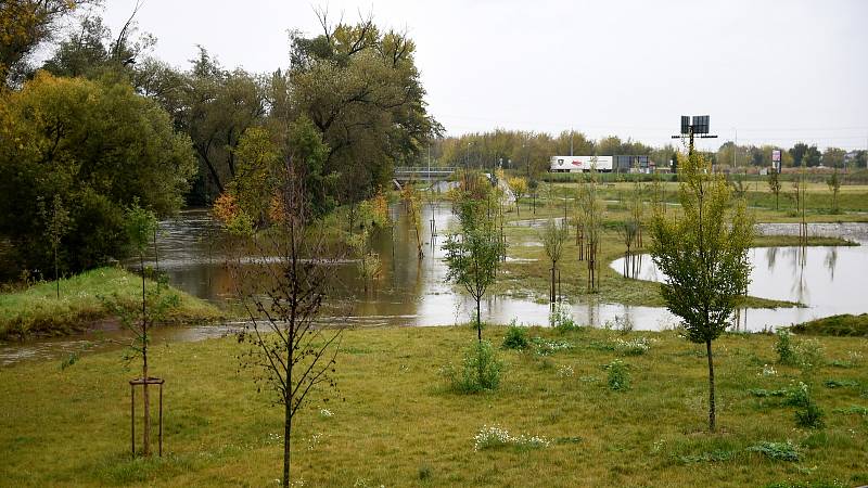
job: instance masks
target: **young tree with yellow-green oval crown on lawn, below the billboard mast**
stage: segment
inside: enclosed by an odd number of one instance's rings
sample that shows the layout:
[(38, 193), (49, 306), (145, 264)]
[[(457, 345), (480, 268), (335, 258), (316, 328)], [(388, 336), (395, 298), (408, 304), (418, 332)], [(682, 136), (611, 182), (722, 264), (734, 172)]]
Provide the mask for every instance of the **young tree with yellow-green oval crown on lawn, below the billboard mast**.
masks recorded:
[(715, 390), (712, 341), (729, 325), (750, 282), (748, 247), (753, 222), (744, 202), (732, 204), (722, 175), (707, 171), (691, 151), (679, 172), (681, 215), (654, 215), (651, 256), (666, 274), (661, 286), (667, 308), (682, 319), (687, 337), (705, 344), (709, 361), (709, 428), (714, 432)]

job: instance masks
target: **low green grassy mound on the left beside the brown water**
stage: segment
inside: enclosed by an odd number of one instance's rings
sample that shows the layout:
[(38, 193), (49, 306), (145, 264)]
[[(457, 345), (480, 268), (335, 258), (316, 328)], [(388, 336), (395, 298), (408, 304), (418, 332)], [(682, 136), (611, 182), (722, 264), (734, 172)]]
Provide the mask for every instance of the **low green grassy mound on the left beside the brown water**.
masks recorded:
[[(149, 286), (154, 283), (149, 281)], [(0, 339), (22, 335), (62, 335), (108, 318), (103, 297), (117, 294), (128, 307), (140, 306), (141, 278), (119, 268), (99, 268), (60, 281), (40, 282), (13, 293), (0, 294)], [(168, 312), (168, 322), (220, 318), (220, 310), (199, 298), (169, 287), (180, 303)]]

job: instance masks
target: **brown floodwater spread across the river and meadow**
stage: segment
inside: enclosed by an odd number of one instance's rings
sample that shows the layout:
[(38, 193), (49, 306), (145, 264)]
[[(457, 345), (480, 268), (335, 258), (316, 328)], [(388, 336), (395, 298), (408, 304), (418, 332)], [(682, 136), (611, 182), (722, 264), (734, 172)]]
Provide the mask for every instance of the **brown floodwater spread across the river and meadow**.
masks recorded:
[[(337, 280), (331, 303), (340, 304), (340, 317), (327, 320), (357, 326), (419, 326), (448, 325), (468, 322), (475, 304), (465, 294), (445, 282), (447, 268), (443, 261), (444, 233), (454, 226), (455, 217), (446, 203), (432, 203), (422, 208), (422, 241), (424, 256), (417, 256), (416, 236), (401, 205), (392, 207), (394, 232), (374, 235), (374, 249), (382, 260), (382, 275), (363, 292), (355, 262), (339, 266)], [(432, 226), (433, 223), (433, 226)], [(519, 226), (535, 226), (539, 221), (524, 220)], [(434, 233), (432, 233), (432, 227)], [(796, 226), (763, 224), (768, 233), (794, 233)], [(220, 252), (224, 246), (215, 222), (205, 210), (186, 210), (178, 219), (161, 223), (158, 266), (169, 282), (194, 296), (222, 305), (234, 298), (232, 274)], [(817, 224), (813, 234), (840, 235), (868, 242), (868, 224)], [(525, 243), (534, 245), (535, 243)], [(750, 293), (767, 298), (800, 301), (802, 308), (748, 309), (740, 313), (735, 329), (743, 331), (774, 330), (835, 313), (857, 313), (868, 310), (863, 299), (860, 277), (868, 275), (868, 246), (812, 247), (806, 254), (797, 248), (758, 248), (751, 251), (754, 264)], [(152, 265), (154, 256), (151, 256)], [(623, 262), (611, 265), (616, 271)], [(651, 259), (642, 259), (639, 275), (660, 280)], [(569, 277), (562, 277), (569, 280)], [(663, 330), (677, 325), (678, 318), (661, 307), (637, 307), (605, 303), (605, 297), (572, 300), (567, 305), (577, 323), (604, 326), (628, 320), (636, 330)], [(512, 319), (526, 324), (548, 323), (548, 304), (528, 299), (492, 296), (483, 301), (483, 320), (508, 323)], [(219, 326), (171, 326), (154, 333), (154, 343), (197, 341), (231, 333), (240, 324)], [(125, 331), (105, 329), (72, 337), (42, 338), (24, 344), (0, 345), (0, 364), (26, 358), (64, 357), (86, 349), (118, 347), (127, 341)]]

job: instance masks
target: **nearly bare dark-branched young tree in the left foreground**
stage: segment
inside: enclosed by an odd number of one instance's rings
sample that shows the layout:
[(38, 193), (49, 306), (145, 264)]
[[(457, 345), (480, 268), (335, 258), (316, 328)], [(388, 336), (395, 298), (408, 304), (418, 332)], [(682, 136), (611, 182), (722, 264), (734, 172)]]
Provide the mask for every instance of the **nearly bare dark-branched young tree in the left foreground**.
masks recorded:
[(319, 146), (292, 144), (280, 150), (280, 164), (271, 172), (276, 181), (271, 227), (251, 236), (253, 266), (239, 259), (231, 267), (247, 313), (239, 339), (251, 348), (242, 357), (260, 371), (255, 380), (275, 391), (283, 407), (283, 487), (290, 486), (296, 415), (311, 390), (334, 386), (331, 374), (342, 332), (318, 322), (337, 258), (330, 253), (326, 226), (314, 218), (314, 193), (306, 188), (310, 181), (306, 171), (317, 167), (323, 144), (309, 124), (290, 130), (289, 141), (314, 134)]

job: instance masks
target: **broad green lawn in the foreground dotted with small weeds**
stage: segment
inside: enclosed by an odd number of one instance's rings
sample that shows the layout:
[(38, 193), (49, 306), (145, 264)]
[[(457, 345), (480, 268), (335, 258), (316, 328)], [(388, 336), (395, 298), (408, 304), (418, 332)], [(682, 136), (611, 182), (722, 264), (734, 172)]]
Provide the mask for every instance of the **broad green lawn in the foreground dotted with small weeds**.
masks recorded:
[[(498, 345), (503, 333), (484, 331)], [(531, 335), (572, 347), (550, 356), (500, 351), (500, 388), (468, 396), (452, 393), (438, 371), (460, 361), (475, 337), (470, 329), (348, 331), (336, 365), (339, 390), (328, 403), (312, 398), (299, 416), (295, 473), (304, 486), (868, 483), (865, 339), (819, 339), (824, 359), (809, 383), (826, 427), (810, 429), (796, 427), (783, 398), (757, 396), (803, 380), (797, 369), (775, 363), (775, 338), (724, 336), (715, 343), (719, 433), (710, 435), (704, 350), (675, 333), (533, 329)], [(639, 356), (618, 342), (640, 338), (650, 348)], [(0, 479), (9, 486), (273, 485), (281, 413), (271, 397), (256, 393), (253, 372), (239, 371), (242, 347), (227, 338), (152, 349), (153, 372), (166, 380), (167, 449), (152, 460), (128, 454), (126, 382), (133, 371), (119, 352), (84, 356), (65, 370), (60, 361), (1, 370)], [(627, 364), (625, 391), (607, 386), (602, 365), (615, 359)], [(550, 445), (474, 451), (484, 425), (544, 436)], [(777, 449), (791, 449), (788, 441), (797, 460), (775, 459)]]

